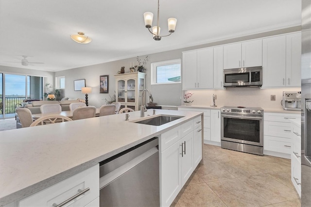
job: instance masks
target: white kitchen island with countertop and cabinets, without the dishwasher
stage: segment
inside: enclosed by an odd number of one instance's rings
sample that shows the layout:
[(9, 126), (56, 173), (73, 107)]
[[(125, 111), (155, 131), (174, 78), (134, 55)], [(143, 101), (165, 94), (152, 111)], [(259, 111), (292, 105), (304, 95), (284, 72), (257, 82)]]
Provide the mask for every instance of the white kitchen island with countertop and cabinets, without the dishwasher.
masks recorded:
[[(174, 199), (202, 159), (203, 113), (158, 109), (153, 115), (148, 109), (143, 118), (140, 111), (129, 115), (129, 121), (115, 114), (0, 131), (0, 206), (57, 206), (68, 200), (69, 206), (99, 206), (98, 163), (154, 137), (164, 159), (160, 179), (177, 186), (164, 195)], [(160, 126), (135, 123), (161, 115), (180, 118)], [(162, 185), (160, 192), (165, 190)]]

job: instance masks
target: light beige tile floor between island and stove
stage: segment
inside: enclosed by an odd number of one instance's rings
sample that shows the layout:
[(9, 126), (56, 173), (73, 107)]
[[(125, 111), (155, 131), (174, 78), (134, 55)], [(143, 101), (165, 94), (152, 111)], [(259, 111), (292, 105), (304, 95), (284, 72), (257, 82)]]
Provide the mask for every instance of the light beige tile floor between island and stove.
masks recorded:
[(291, 160), (204, 144), (199, 164), (172, 207), (300, 207)]

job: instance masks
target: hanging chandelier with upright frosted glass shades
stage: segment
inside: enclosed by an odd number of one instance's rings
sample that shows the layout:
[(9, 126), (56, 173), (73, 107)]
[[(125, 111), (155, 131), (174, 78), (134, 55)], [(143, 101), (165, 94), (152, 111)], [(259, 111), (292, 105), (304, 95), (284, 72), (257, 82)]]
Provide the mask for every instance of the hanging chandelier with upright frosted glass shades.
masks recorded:
[[(160, 3), (159, 0), (157, 0), (157, 18), (156, 18), (156, 26), (152, 28), (152, 32), (150, 31), (151, 25), (152, 25), (152, 20), (154, 18), (154, 14), (151, 12), (145, 12), (144, 13), (144, 20), (145, 20), (145, 25), (146, 28), (148, 28), (149, 32), (154, 36), (155, 40), (161, 40), (160, 36), (160, 27), (159, 27), (159, 13), (160, 13)], [(176, 18), (169, 18), (168, 20), (168, 25), (169, 25), (169, 35), (172, 35), (173, 32), (175, 32), (175, 27), (176, 27)], [(163, 35), (163, 36), (169, 36), (169, 35)]]

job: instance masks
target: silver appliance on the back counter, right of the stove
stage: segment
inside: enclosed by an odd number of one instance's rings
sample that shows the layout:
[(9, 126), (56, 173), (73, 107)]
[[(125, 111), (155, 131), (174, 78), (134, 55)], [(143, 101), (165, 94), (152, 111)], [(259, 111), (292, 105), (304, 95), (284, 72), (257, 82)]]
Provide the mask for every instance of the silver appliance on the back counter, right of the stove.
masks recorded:
[(283, 91), (281, 104), (284, 110), (301, 110), (301, 91)]

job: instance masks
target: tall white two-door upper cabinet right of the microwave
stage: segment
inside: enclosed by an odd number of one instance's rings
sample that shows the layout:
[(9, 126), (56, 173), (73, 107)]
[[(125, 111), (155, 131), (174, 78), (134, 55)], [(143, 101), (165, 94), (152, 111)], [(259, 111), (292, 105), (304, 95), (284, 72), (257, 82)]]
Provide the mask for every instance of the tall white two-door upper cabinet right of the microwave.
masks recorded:
[(262, 45), (262, 87), (299, 87), (301, 34), (264, 38)]

